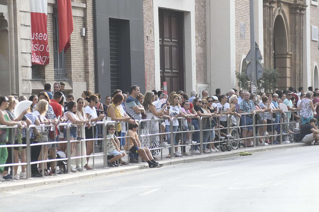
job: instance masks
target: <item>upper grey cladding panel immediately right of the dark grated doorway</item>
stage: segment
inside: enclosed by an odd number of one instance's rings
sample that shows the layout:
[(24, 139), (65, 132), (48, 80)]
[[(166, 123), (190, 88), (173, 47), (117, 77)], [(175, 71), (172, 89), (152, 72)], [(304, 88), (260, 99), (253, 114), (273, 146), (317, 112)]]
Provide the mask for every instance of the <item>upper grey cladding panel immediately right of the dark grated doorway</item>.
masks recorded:
[(130, 20), (131, 51), (144, 52), (144, 22)]

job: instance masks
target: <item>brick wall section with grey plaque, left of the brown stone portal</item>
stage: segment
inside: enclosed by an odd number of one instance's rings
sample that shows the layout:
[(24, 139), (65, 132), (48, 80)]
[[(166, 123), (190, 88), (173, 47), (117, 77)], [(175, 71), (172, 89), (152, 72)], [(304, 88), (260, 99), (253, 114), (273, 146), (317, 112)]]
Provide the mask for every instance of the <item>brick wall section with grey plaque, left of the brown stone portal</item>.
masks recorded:
[[(240, 38), (240, 23), (245, 24), (245, 39)], [(235, 0), (235, 42), (236, 42), (236, 72), (241, 67), (241, 57), (250, 50), (249, 0)], [(236, 79), (238, 89), (238, 80)], [(230, 89), (230, 88), (229, 88)]]

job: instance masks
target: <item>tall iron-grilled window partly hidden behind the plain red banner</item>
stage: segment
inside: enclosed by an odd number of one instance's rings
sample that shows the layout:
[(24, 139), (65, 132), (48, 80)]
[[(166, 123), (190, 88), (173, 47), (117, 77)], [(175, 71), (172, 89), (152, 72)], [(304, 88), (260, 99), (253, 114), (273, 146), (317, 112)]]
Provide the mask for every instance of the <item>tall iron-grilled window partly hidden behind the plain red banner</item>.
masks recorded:
[(53, 54), (54, 54), (54, 80), (71, 81), (67, 78), (65, 68), (65, 53), (62, 50), (59, 53), (59, 25), (58, 25), (58, 9), (55, 4), (53, 7)]

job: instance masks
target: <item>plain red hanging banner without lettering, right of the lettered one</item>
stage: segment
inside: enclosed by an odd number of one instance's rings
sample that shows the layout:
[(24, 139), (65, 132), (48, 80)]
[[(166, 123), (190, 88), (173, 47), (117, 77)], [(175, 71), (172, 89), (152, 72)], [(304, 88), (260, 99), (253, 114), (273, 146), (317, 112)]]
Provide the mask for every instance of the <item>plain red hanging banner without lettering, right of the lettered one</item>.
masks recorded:
[(59, 52), (68, 50), (73, 32), (73, 16), (71, 0), (57, 0), (59, 20)]

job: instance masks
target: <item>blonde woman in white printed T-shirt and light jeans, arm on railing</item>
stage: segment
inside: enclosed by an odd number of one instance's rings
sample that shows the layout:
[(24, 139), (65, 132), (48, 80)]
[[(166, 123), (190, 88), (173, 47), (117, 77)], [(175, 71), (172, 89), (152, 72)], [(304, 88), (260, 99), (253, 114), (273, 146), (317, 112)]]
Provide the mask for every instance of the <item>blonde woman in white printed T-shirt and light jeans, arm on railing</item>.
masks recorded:
[[(167, 102), (166, 104), (166, 107), (167, 109), (169, 110), (166, 110), (166, 115), (169, 116), (169, 117), (174, 117), (174, 118), (177, 118), (177, 117), (187, 117), (185, 114), (182, 113), (182, 107), (179, 105), (179, 96), (177, 94), (172, 94), (170, 99), (169, 99), (169, 102)], [(173, 120), (173, 132), (176, 132), (177, 129), (178, 129), (178, 120), (177, 119), (174, 119)], [(170, 132), (170, 122), (168, 120), (165, 120), (165, 132)], [(178, 142), (175, 140), (175, 136), (176, 136), (176, 133), (173, 133), (173, 141), (174, 141), (174, 144), (177, 145)], [(171, 135), (170, 134), (167, 134), (167, 143), (170, 144), (171, 143)], [(178, 152), (178, 147), (174, 147), (175, 149), (175, 152), (174, 152), (174, 156), (175, 157), (179, 157), (179, 156), (182, 156), (181, 153)], [(167, 158), (170, 158), (171, 157), (171, 149), (169, 148), (169, 155), (167, 156)]]

